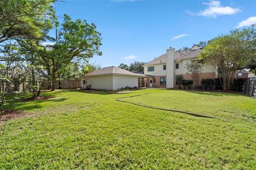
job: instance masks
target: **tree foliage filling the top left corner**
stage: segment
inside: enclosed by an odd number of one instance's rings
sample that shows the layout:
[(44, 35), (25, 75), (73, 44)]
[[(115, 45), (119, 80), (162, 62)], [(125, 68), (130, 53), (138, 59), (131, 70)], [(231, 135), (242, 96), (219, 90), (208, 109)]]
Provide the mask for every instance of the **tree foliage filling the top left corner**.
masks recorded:
[(41, 39), (51, 27), (55, 0), (1, 0), (0, 43), (6, 40)]

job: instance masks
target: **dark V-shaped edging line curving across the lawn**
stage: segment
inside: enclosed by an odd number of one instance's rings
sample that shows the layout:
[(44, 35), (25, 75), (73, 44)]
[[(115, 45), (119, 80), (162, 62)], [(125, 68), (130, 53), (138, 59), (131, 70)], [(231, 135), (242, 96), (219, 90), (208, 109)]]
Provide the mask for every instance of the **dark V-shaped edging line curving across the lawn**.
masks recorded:
[(204, 116), (204, 115), (199, 115), (199, 114), (190, 113), (190, 112), (177, 111), (177, 110), (166, 109), (166, 108), (158, 108), (158, 107), (153, 107), (153, 106), (145, 106), (145, 105), (140, 105), (140, 104), (137, 104), (137, 103), (132, 103), (132, 102), (130, 102), (130, 101), (123, 101), (123, 100), (121, 100), (121, 99), (124, 99), (124, 98), (132, 98), (132, 97), (137, 97), (137, 96), (142, 96), (142, 95), (148, 95), (148, 94), (149, 94), (149, 93), (147, 93), (147, 94), (141, 94), (141, 95), (135, 95), (135, 96), (130, 96), (130, 97), (120, 97), (120, 98), (116, 98), (116, 101), (120, 101), (120, 102), (123, 102), (123, 103), (130, 103), (130, 104), (133, 104), (133, 105), (137, 105), (137, 106), (141, 106), (141, 107), (146, 107), (146, 108), (158, 109), (158, 110), (162, 110), (162, 111), (170, 111), (170, 112), (185, 113), (185, 114), (188, 114), (188, 115), (191, 115), (191, 116), (196, 116), (196, 117), (215, 118), (215, 117), (211, 117), (211, 116)]

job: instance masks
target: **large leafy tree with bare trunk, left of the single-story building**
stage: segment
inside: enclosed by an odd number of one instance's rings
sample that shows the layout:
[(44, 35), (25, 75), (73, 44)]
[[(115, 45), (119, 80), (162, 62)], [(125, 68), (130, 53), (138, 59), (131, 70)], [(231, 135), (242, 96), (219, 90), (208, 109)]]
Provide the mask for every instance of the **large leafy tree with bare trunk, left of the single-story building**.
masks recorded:
[[(42, 55), (51, 74), (52, 90), (55, 90), (57, 73), (70, 62), (87, 61), (93, 55), (101, 55), (100, 33), (95, 24), (86, 21), (72, 21), (68, 15), (63, 16), (63, 23), (57, 31), (56, 44), (52, 45), (47, 55)], [(47, 49), (46, 49), (47, 50)]]

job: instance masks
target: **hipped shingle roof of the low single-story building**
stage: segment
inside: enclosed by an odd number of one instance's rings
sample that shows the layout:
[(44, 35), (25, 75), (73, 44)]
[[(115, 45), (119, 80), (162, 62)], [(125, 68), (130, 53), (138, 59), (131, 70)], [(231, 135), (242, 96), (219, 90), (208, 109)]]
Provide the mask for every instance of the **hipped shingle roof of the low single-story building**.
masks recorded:
[(91, 76), (106, 75), (106, 74), (123, 74), (123, 75), (132, 75), (132, 76), (138, 76), (138, 77), (146, 77), (145, 74), (133, 73), (124, 69), (120, 69), (119, 67), (116, 67), (116, 66), (104, 67), (102, 69), (95, 70), (91, 73), (85, 74), (82, 77), (91, 77)]

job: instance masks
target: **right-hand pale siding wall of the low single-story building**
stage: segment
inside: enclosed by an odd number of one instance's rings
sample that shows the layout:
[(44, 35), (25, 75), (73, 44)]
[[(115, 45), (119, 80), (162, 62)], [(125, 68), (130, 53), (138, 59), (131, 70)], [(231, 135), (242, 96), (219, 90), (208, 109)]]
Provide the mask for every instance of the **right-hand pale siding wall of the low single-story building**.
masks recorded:
[(113, 75), (113, 89), (118, 90), (121, 88), (138, 87), (138, 77), (126, 75)]

